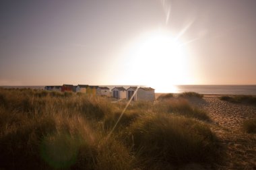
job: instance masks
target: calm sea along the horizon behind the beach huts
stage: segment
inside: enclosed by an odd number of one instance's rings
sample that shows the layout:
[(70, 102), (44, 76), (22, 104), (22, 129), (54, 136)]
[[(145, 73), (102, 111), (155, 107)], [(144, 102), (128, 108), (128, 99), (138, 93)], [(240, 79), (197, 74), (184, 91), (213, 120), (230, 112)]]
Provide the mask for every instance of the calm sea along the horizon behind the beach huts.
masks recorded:
[[(101, 85), (100, 85), (101, 86)], [(122, 85), (102, 85), (109, 89), (121, 87)], [(135, 86), (135, 85), (132, 85)], [(0, 86), (3, 88), (30, 88), (44, 89), (44, 86)], [(123, 85), (125, 89), (130, 85)], [(154, 88), (154, 87), (153, 87)], [(220, 95), (256, 95), (256, 85), (173, 85), (169, 91), (161, 91), (162, 93), (183, 93), (193, 91), (201, 94), (220, 94)], [(156, 89), (158, 93), (158, 89)]]

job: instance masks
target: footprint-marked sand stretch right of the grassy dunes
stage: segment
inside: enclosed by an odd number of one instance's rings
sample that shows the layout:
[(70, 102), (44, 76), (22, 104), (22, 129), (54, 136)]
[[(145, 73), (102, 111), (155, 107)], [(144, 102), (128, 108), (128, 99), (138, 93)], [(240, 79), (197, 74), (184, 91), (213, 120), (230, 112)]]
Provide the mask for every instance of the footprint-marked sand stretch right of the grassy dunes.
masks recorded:
[(224, 163), (220, 169), (256, 169), (256, 134), (247, 134), (243, 122), (256, 118), (256, 107), (204, 95), (203, 99), (187, 98), (191, 105), (205, 110), (212, 119), (211, 128), (224, 146)]

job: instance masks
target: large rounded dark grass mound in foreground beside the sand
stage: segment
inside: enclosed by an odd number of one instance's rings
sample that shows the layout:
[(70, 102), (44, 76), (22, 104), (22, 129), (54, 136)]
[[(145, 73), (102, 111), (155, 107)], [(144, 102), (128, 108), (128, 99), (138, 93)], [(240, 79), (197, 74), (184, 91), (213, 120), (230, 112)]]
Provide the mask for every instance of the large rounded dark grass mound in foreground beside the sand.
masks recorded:
[(142, 159), (184, 163), (211, 163), (218, 159), (216, 136), (201, 122), (168, 114), (150, 114), (135, 121), (127, 143)]

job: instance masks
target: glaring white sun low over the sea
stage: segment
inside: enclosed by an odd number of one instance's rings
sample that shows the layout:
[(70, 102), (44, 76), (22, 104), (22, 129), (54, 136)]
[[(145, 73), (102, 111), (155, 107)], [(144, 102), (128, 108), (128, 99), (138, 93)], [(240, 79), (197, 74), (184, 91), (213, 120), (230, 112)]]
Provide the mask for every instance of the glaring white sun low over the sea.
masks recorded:
[(156, 92), (175, 92), (173, 85), (186, 83), (186, 55), (181, 42), (169, 32), (151, 32), (131, 44), (129, 78)]

